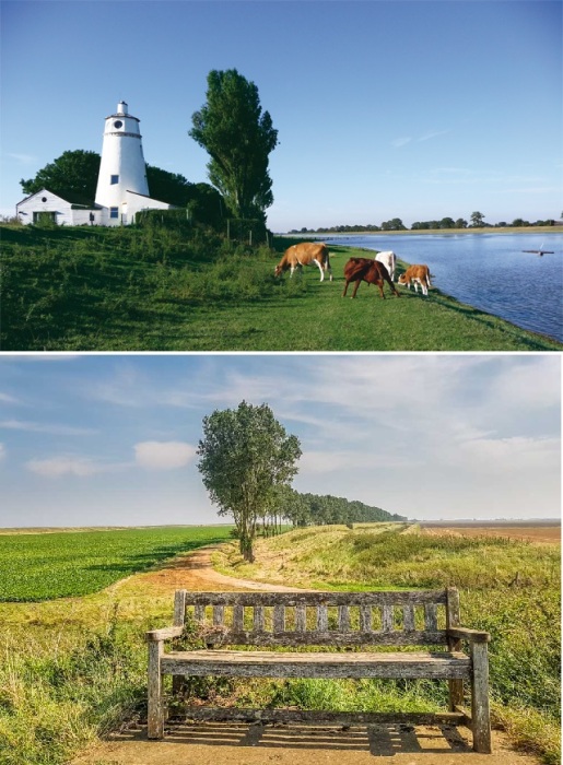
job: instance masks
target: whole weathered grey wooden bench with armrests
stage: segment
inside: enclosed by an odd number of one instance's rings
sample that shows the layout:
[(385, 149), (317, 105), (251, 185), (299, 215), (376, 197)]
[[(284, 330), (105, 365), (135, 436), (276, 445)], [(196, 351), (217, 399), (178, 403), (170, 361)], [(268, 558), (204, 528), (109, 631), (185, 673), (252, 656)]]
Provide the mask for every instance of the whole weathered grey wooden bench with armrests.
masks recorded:
[[(186, 621), (188, 616), (188, 622)], [(164, 651), (187, 623), (196, 624), (206, 649)], [(191, 707), (190, 719), (326, 720), (339, 725), (397, 721), (470, 725), (473, 749), (491, 751), (489, 634), (459, 623), (455, 588), (412, 592), (188, 592), (175, 595), (174, 625), (146, 633), (150, 739), (164, 737), (163, 675), (173, 693), (185, 676), (238, 678), (431, 678), (449, 683), (449, 713), (436, 716), (379, 713), (293, 713)], [(469, 652), (461, 650), (467, 642)], [(227, 646), (251, 646), (236, 650)], [(322, 647), (303, 650), (307, 646)], [(374, 647), (408, 647), (403, 651)], [(413, 646), (431, 647), (413, 650)], [(280, 647), (293, 650), (280, 650)], [(441, 647), (441, 648), (438, 648)], [(273, 649), (273, 650), (267, 650)], [(278, 649), (278, 650), (275, 650)], [(302, 649), (302, 650), (300, 650)], [(367, 650), (366, 650), (367, 649)], [(470, 710), (464, 707), (470, 683)], [(306, 716), (309, 716), (306, 718)], [(429, 719), (430, 717), (430, 719)]]

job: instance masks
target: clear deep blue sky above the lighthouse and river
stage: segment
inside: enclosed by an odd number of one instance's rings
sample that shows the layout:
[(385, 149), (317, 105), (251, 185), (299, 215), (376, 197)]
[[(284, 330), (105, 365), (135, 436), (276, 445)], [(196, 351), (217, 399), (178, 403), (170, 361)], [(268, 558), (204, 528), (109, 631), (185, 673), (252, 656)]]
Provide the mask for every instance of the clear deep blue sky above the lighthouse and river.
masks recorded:
[(279, 130), (273, 231), (559, 219), (562, 4), (542, 0), (2, 0), (1, 214), (119, 101), (146, 161), (207, 180), (187, 134), (212, 69)]

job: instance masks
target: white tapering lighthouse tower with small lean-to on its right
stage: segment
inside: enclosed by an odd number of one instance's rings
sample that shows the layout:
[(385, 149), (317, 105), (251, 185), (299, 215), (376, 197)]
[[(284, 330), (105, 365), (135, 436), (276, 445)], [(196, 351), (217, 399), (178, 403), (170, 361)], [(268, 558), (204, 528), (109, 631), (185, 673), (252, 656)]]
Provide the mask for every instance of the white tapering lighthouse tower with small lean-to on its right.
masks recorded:
[(139, 121), (125, 101), (106, 117), (95, 199), (105, 209), (106, 225), (132, 223), (141, 209), (171, 207), (149, 197)]

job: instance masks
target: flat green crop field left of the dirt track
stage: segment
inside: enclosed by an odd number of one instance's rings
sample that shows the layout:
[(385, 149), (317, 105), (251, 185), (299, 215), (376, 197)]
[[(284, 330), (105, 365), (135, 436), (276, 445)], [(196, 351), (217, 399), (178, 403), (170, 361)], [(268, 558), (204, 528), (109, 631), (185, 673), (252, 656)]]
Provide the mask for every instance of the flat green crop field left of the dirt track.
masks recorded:
[(180, 552), (222, 542), (231, 527), (164, 527), (0, 536), (0, 601), (97, 592)]

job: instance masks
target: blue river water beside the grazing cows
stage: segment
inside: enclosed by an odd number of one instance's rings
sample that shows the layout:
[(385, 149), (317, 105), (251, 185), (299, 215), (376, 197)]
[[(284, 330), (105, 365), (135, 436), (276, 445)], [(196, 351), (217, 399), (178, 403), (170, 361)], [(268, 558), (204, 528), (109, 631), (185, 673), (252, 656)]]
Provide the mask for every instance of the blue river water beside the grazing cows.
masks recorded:
[[(456, 299), (563, 342), (563, 234), (365, 234), (328, 245), (392, 249), (426, 263), (432, 284)], [(539, 257), (524, 250), (553, 250)], [(432, 292), (431, 292), (432, 294)]]

